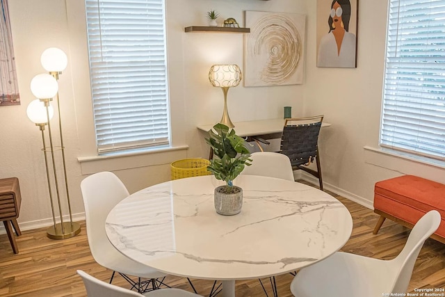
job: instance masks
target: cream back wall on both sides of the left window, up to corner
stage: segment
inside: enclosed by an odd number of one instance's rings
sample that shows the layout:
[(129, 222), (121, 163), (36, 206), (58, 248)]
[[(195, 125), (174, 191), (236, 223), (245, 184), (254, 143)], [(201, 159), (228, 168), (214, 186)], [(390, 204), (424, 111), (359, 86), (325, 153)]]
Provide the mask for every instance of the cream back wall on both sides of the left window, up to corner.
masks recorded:
[[(51, 224), (40, 131), (26, 117), (26, 106), (34, 99), (29, 83), (36, 74), (44, 73), (40, 65), (40, 54), (44, 49), (59, 47), (69, 58), (67, 69), (60, 75), (59, 93), (72, 212), (81, 217), (83, 202), (79, 185), (92, 172), (113, 170), (133, 192), (170, 179), (172, 161), (207, 156), (207, 146), (196, 126), (217, 122), (223, 110), (223, 93), (210, 85), (207, 73), (214, 63), (238, 63), (242, 67), (243, 34), (184, 33), (185, 26), (206, 25), (205, 13), (212, 8), (220, 11), (221, 20), (235, 17), (241, 26), (244, 10), (305, 13), (302, 11), (305, 9), (303, 1), (295, 0), (166, 2), (172, 143), (177, 150), (97, 159), (94, 158), (83, 1), (9, 1), (22, 104), (0, 109), (3, 128), (0, 134), (3, 153), (0, 178), (19, 178), (23, 201), (19, 223), (22, 228)], [(231, 118), (234, 121), (276, 118), (282, 115), (282, 107), (287, 105), (293, 106), (294, 114), (299, 115), (302, 113), (303, 88), (232, 88), (229, 90)], [(189, 149), (184, 149), (187, 146)], [(79, 163), (78, 158), (83, 162)]]

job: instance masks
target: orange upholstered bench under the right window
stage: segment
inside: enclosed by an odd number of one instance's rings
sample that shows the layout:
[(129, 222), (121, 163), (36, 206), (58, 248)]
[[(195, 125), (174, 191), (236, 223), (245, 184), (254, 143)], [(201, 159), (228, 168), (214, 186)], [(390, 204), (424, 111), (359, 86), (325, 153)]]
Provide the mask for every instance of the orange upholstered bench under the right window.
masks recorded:
[(373, 234), (377, 234), (385, 218), (412, 228), (428, 211), (436, 209), (442, 217), (439, 229), (431, 237), (445, 243), (445, 184), (404, 175), (376, 182), (374, 212), (380, 214)]

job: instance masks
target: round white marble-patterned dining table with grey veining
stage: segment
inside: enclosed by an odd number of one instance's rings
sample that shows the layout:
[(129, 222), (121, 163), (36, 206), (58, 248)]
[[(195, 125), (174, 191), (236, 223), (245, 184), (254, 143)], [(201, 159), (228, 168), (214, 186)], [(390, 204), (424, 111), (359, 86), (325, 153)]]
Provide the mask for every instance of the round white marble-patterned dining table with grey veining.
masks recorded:
[(353, 221), (346, 207), (316, 188), (284, 179), (240, 175), (243, 209), (221, 216), (213, 175), (176, 179), (133, 193), (106, 218), (106, 234), (127, 257), (172, 275), (235, 280), (280, 275), (339, 250)]

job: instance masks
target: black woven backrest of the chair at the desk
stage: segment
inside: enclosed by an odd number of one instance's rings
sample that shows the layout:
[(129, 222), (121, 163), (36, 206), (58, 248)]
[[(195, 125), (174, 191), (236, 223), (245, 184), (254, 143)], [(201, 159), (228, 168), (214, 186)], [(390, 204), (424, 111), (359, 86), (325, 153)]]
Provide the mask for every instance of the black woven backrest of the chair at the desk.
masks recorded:
[(289, 156), (292, 166), (314, 161), (318, 152), (321, 122), (283, 127), (280, 152)]

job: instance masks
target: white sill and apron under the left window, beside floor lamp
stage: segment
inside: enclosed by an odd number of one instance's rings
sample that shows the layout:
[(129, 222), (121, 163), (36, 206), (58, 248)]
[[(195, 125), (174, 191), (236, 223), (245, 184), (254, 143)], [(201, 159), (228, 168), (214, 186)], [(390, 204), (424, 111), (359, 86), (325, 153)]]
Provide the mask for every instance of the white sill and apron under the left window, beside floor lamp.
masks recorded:
[(82, 175), (90, 175), (101, 171), (125, 170), (147, 166), (165, 165), (176, 159), (184, 159), (184, 151), (188, 145), (176, 147), (163, 147), (134, 152), (121, 152), (119, 154), (106, 154), (100, 156), (79, 156)]

